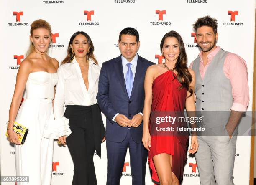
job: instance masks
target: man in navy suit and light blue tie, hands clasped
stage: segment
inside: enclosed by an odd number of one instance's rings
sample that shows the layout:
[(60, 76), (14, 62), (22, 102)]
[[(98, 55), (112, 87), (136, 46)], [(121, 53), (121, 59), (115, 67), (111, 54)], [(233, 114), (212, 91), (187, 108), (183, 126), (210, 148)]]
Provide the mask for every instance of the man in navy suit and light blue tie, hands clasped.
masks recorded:
[(153, 62), (138, 56), (139, 34), (125, 28), (119, 35), (121, 55), (102, 64), (97, 101), (107, 117), (107, 185), (119, 185), (127, 148), (133, 185), (145, 185), (147, 150), (143, 132), (144, 78)]

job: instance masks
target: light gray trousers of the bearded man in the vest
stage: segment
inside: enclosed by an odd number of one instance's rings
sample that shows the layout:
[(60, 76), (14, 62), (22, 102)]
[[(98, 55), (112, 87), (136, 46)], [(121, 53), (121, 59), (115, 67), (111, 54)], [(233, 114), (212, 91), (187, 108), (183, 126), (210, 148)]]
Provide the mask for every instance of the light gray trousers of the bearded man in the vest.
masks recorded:
[(195, 154), (201, 185), (234, 185), (233, 168), (236, 154), (236, 132), (198, 136), (198, 151)]

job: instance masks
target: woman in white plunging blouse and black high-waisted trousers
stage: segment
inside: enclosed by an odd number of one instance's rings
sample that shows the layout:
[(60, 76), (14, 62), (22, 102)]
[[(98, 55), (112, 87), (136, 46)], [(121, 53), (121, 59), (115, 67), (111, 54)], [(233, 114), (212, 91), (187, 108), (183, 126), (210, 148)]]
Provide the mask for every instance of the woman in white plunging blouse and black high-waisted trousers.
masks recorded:
[(67, 138), (62, 136), (58, 139), (61, 144), (67, 141), (74, 163), (72, 185), (97, 185), (93, 156), (95, 150), (100, 156), (101, 142), (105, 140), (96, 99), (100, 66), (93, 51), (94, 46), (87, 33), (74, 33), (69, 41), (67, 57), (58, 69), (54, 117), (64, 123), (69, 120), (72, 131)]

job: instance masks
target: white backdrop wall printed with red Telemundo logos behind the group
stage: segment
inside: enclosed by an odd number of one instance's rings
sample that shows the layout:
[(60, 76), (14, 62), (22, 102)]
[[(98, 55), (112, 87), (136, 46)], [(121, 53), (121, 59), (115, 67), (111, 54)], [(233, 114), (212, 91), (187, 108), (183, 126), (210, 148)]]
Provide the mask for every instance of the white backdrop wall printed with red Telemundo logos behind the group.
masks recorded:
[[(1, 106), (0, 106), (0, 166), (2, 176), (15, 176), (14, 147), (5, 137), (5, 122), (13, 96), (16, 73), (29, 46), (30, 25), (44, 19), (51, 24), (52, 44), (49, 55), (59, 62), (67, 53), (71, 35), (77, 31), (88, 33), (95, 46), (95, 56), (101, 66), (104, 61), (120, 55), (118, 36), (125, 27), (133, 27), (140, 34), (138, 53), (155, 63), (162, 63), (159, 49), (161, 38), (170, 30), (183, 38), (188, 65), (200, 50), (192, 24), (197, 18), (210, 15), (218, 20), (218, 46), (236, 53), (247, 62), (250, 99), (253, 90), (253, 52), (255, 29), (255, 0), (12, 0), (1, 1)], [(252, 101), (248, 106), (252, 110)], [(105, 116), (102, 114), (103, 119)], [(25, 143), (26, 144), (26, 143)], [(237, 139), (234, 183), (249, 184), (250, 136)], [(33, 160), (33, 159), (31, 159)], [(101, 159), (94, 157), (97, 182), (104, 185), (107, 178), (106, 144), (102, 144)], [(54, 142), (52, 185), (71, 185), (73, 163), (66, 146)], [(125, 159), (121, 185), (131, 185), (129, 152)], [(3, 183), (3, 185), (15, 183)], [(149, 168), (146, 185), (152, 185)], [(199, 185), (195, 157), (188, 155), (182, 185)]]

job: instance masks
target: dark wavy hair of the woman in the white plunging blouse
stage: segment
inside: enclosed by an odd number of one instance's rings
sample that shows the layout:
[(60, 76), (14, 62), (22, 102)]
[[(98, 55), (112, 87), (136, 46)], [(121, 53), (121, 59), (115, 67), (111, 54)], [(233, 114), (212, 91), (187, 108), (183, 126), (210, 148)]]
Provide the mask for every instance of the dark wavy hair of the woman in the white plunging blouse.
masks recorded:
[(68, 47), (68, 49), (67, 49), (67, 56), (66, 56), (66, 58), (61, 62), (61, 64), (69, 63), (69, 62), (72, 61), (72, 58), (74, 58), (74, 54), (72, 53), (72, 48), (71, 48), (70, 45), (72, 45), (74, 38), (75, 38), (77, 35), (79, 35), (79, 34), (82, 34), (82, 35), (84, 35), (84, 36), (87, 38), (87, 42), (88, 42), (89, 47), (90, 47), (89, 53), (86, 54), (86, 60), (88, 61), (88, 60), (91, 58), (91, 59), (98, 65), (98, 61), (96, 60), (96, 58), (95, 58), (95, 56), (94, 56), (94, 54), (93, 54), (94, 46), (93, 46), (92, 40), (91, 40), (90, 36), (89, 36), (87, 33), (83, 32), (83, 31), (77, 31), (76, 33), (74, 33), (74, 34), (71, 36), (71, 38), (70, 38), (70, 40), (69, 40), (69, 47)]

